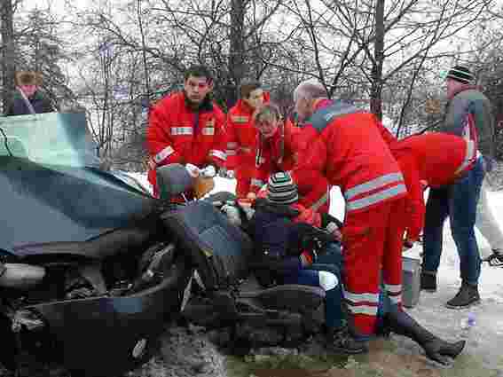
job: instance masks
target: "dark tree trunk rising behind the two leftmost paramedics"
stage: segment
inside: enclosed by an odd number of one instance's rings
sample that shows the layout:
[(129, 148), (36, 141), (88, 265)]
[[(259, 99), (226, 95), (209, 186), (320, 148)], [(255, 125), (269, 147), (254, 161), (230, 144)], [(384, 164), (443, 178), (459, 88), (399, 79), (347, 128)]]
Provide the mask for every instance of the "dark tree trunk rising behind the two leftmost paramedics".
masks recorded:
[(247, 0), (231, 0), (231, 28), (230, 28), (230, 51), (229, 51), (229, 78), (233, 81), (232, 85), (226, 90), (225, 101), (228, 107), (234, 105), (238, 98), (236, 88), (245, 75), (245, 8)]

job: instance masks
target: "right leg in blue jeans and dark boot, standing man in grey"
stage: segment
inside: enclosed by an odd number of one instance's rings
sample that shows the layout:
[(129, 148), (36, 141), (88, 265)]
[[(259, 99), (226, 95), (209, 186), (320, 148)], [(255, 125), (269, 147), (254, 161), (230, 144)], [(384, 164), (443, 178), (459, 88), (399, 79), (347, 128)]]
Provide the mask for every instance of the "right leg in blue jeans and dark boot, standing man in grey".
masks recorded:
[(482, 261), (475, 238), (475, 217), (483, 176), (481, 157), (465, 177), (451, 186), (451, 230), (460, 255), (462, 286), (458, 295), (447, 302), (448, 307), (461, 308), (480, 300), (477, 286)]

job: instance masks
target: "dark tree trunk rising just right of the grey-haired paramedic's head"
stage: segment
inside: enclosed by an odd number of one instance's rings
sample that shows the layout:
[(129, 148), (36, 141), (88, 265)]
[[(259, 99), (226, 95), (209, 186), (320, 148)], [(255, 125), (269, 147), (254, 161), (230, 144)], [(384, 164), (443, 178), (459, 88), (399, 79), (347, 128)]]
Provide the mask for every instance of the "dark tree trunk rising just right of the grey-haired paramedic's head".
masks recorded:
[(375, 3), (375, 42), (372, 86), (370, 91), (370, 111), (382, 119), (382, 64), (384, 60), (384, 0)]

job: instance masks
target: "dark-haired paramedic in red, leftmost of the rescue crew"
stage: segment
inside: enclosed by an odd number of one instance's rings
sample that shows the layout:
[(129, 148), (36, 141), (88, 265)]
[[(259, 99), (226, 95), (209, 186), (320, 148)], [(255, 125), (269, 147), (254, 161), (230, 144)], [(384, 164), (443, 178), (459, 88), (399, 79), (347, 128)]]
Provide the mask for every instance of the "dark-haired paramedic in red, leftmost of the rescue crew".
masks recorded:
[(152, 109), (146, 131), (150, 159), (148, 180), (156, 186), (155, 169), (169, 163), (190, 163), (203, 169), (223, 167), (225, 115), (209, 98), (213, 78), (207, 67), (193, 66), (185, 72), (184, 90), (162, 98)]

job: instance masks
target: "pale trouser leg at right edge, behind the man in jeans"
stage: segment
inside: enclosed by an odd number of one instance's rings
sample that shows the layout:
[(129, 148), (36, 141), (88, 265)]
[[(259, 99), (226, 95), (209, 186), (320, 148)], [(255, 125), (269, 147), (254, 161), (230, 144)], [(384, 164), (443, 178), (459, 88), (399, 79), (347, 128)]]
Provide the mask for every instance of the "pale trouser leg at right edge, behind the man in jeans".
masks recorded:
[(501, 232), (498, 221), (494, 218), (491, 208), (489, 207), (487, 187), (487, 178), (484, 178), (476, 207), (475, 226), (482, 233), (487, 242), (489, 242), (491, 250), (503, 254), (503, 232)]

